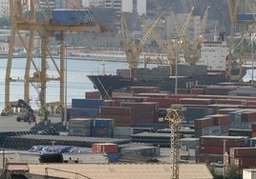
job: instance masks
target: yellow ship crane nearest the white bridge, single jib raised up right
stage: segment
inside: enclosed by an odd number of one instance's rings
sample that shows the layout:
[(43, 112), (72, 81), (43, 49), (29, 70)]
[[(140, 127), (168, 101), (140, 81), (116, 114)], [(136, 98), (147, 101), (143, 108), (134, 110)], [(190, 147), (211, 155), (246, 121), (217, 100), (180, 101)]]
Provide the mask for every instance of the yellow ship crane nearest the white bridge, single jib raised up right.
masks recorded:
[(190, 44), (190, 41), (188, 39), (185, 40), (182, 44), (185, 62), (187, 62), (190, 65), (195, 65), (201, 58), (201, 49), (203, 46), (204, 31), (206, 29), (206, 22), (209, 9), (210, 7), (208, 6), (204, 11), (202, 23), (200, 26), (200, 34), (196, 37), (193, 44)]

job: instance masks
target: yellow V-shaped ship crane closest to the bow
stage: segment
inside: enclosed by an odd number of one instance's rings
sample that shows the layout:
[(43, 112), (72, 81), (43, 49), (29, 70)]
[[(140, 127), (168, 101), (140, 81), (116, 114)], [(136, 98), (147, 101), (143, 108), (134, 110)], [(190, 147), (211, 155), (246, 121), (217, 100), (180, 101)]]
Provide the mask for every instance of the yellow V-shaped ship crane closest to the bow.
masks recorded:
[(124, 52), (126, 55), (126, 61), (129, 65), (130, 69), (130, 76), (134, 77), (135, 69), (138, 68), (139, 63), (139, 54), (143, 50), (144, 46), (146, 45), (147, 40), (150, 38), (153, 30), (157, 27), (160, 23), (160, 19), (164, 12), (160, 14), (157, 20), (153, 23), (149, 30), (146, 31), (144, 36), (139, 42), (139, 45), (133, 40), (132, 35), (128, 29), (128, 26), (125, 21), (125, 16), (123, 12), (121, 12), (121, 36), (123, 41)]

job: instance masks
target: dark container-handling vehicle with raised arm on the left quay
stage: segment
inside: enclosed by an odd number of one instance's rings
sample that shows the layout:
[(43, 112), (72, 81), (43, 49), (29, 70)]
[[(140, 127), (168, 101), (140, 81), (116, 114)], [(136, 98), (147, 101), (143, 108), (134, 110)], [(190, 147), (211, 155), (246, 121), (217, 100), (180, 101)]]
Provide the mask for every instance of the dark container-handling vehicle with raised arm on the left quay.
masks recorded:
[(16, 118), (16, 120), (18, 122), (21, 122), (21, 121), (24, 121), (24, 122), (35, 122), (36, 117), (34, 115), (33, 109), (23, 99), (19, 99), (16, 105), (11, 105), (11, 108), (25, 109), (25, 111), (22, 112), (22, 114)]

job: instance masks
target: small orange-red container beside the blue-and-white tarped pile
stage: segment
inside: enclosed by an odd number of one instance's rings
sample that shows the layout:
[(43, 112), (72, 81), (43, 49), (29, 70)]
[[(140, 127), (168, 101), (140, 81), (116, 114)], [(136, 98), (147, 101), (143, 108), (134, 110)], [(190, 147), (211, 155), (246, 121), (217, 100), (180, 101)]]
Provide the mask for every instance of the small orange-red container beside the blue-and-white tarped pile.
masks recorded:
[(118, 146), (117, 144), (113, 143), (100, 143), (100, 144), (93, 144), (92, 145), (93, 152), (101, 153), (117, 153), (118, 152)]

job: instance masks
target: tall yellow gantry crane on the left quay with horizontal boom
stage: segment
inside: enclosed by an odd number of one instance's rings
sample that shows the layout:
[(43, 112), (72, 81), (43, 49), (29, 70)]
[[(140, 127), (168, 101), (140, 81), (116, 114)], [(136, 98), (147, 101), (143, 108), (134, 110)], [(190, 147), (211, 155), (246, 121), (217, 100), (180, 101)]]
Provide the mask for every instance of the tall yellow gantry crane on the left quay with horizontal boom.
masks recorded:
[[(65, 90), (65, 50), (66, 31), (95, 31), (99, 32), (103, 30), (103, 27), (99, 27), (96, 23), (88, 24), (53, 24), (51, 15), (46, 12), (46, 7), (40, 6), (39, 0), (10, 0), (10, 16), (11, 16), (11, 40), (10, 49), (8, 55), (8, 64), (6, 71), (6, 85), (5, 85), (5, 111), (11, 111), (11, 104), (16, 104), (16, 101), (11, 101), (11, 84), (16, 83), (19, 79), (11, 77), (11, 64), (15, 45), (15, 38), (18, 36), (22, 42), (24, 49), (27, 52), (27, 62), (24, 74), (24, 101), (30, 103), (30, 87), (39, 87), (39, 102), (40, 109), (46, 109), (48, 107), (59, 107), (64, 105), (64, 90)], [(51, 7), (48, 0), (45, 0), (48, 5), (48, 10), (51, 11)], [(37, 13), (39, 11), (39, 13)], [(38, 15), (41, 15), (41, 21)], [(26, 43), (21, 30), (28, 31), (30, 40)], [(35, 63), (32, 58), (32, 51), (34, 50), (34, 37), (38, 34), (41, 38), (41, 60), (40, 65)], [(54, 34), (59, 34), (60, 47), (60, 60), (55, 61), (53, 54), (48, 47), (49, 38)], [(48, 60), (52, 61), (53, 68), (57, 71), (58, 76), (51, 77), (47, 74)], [(53, 103), (46, 103), (47, 96), (47, 83), (55, 81), (59, 82), (59, 100)], [(44, 111), (42, 111), (44, 112)]]

